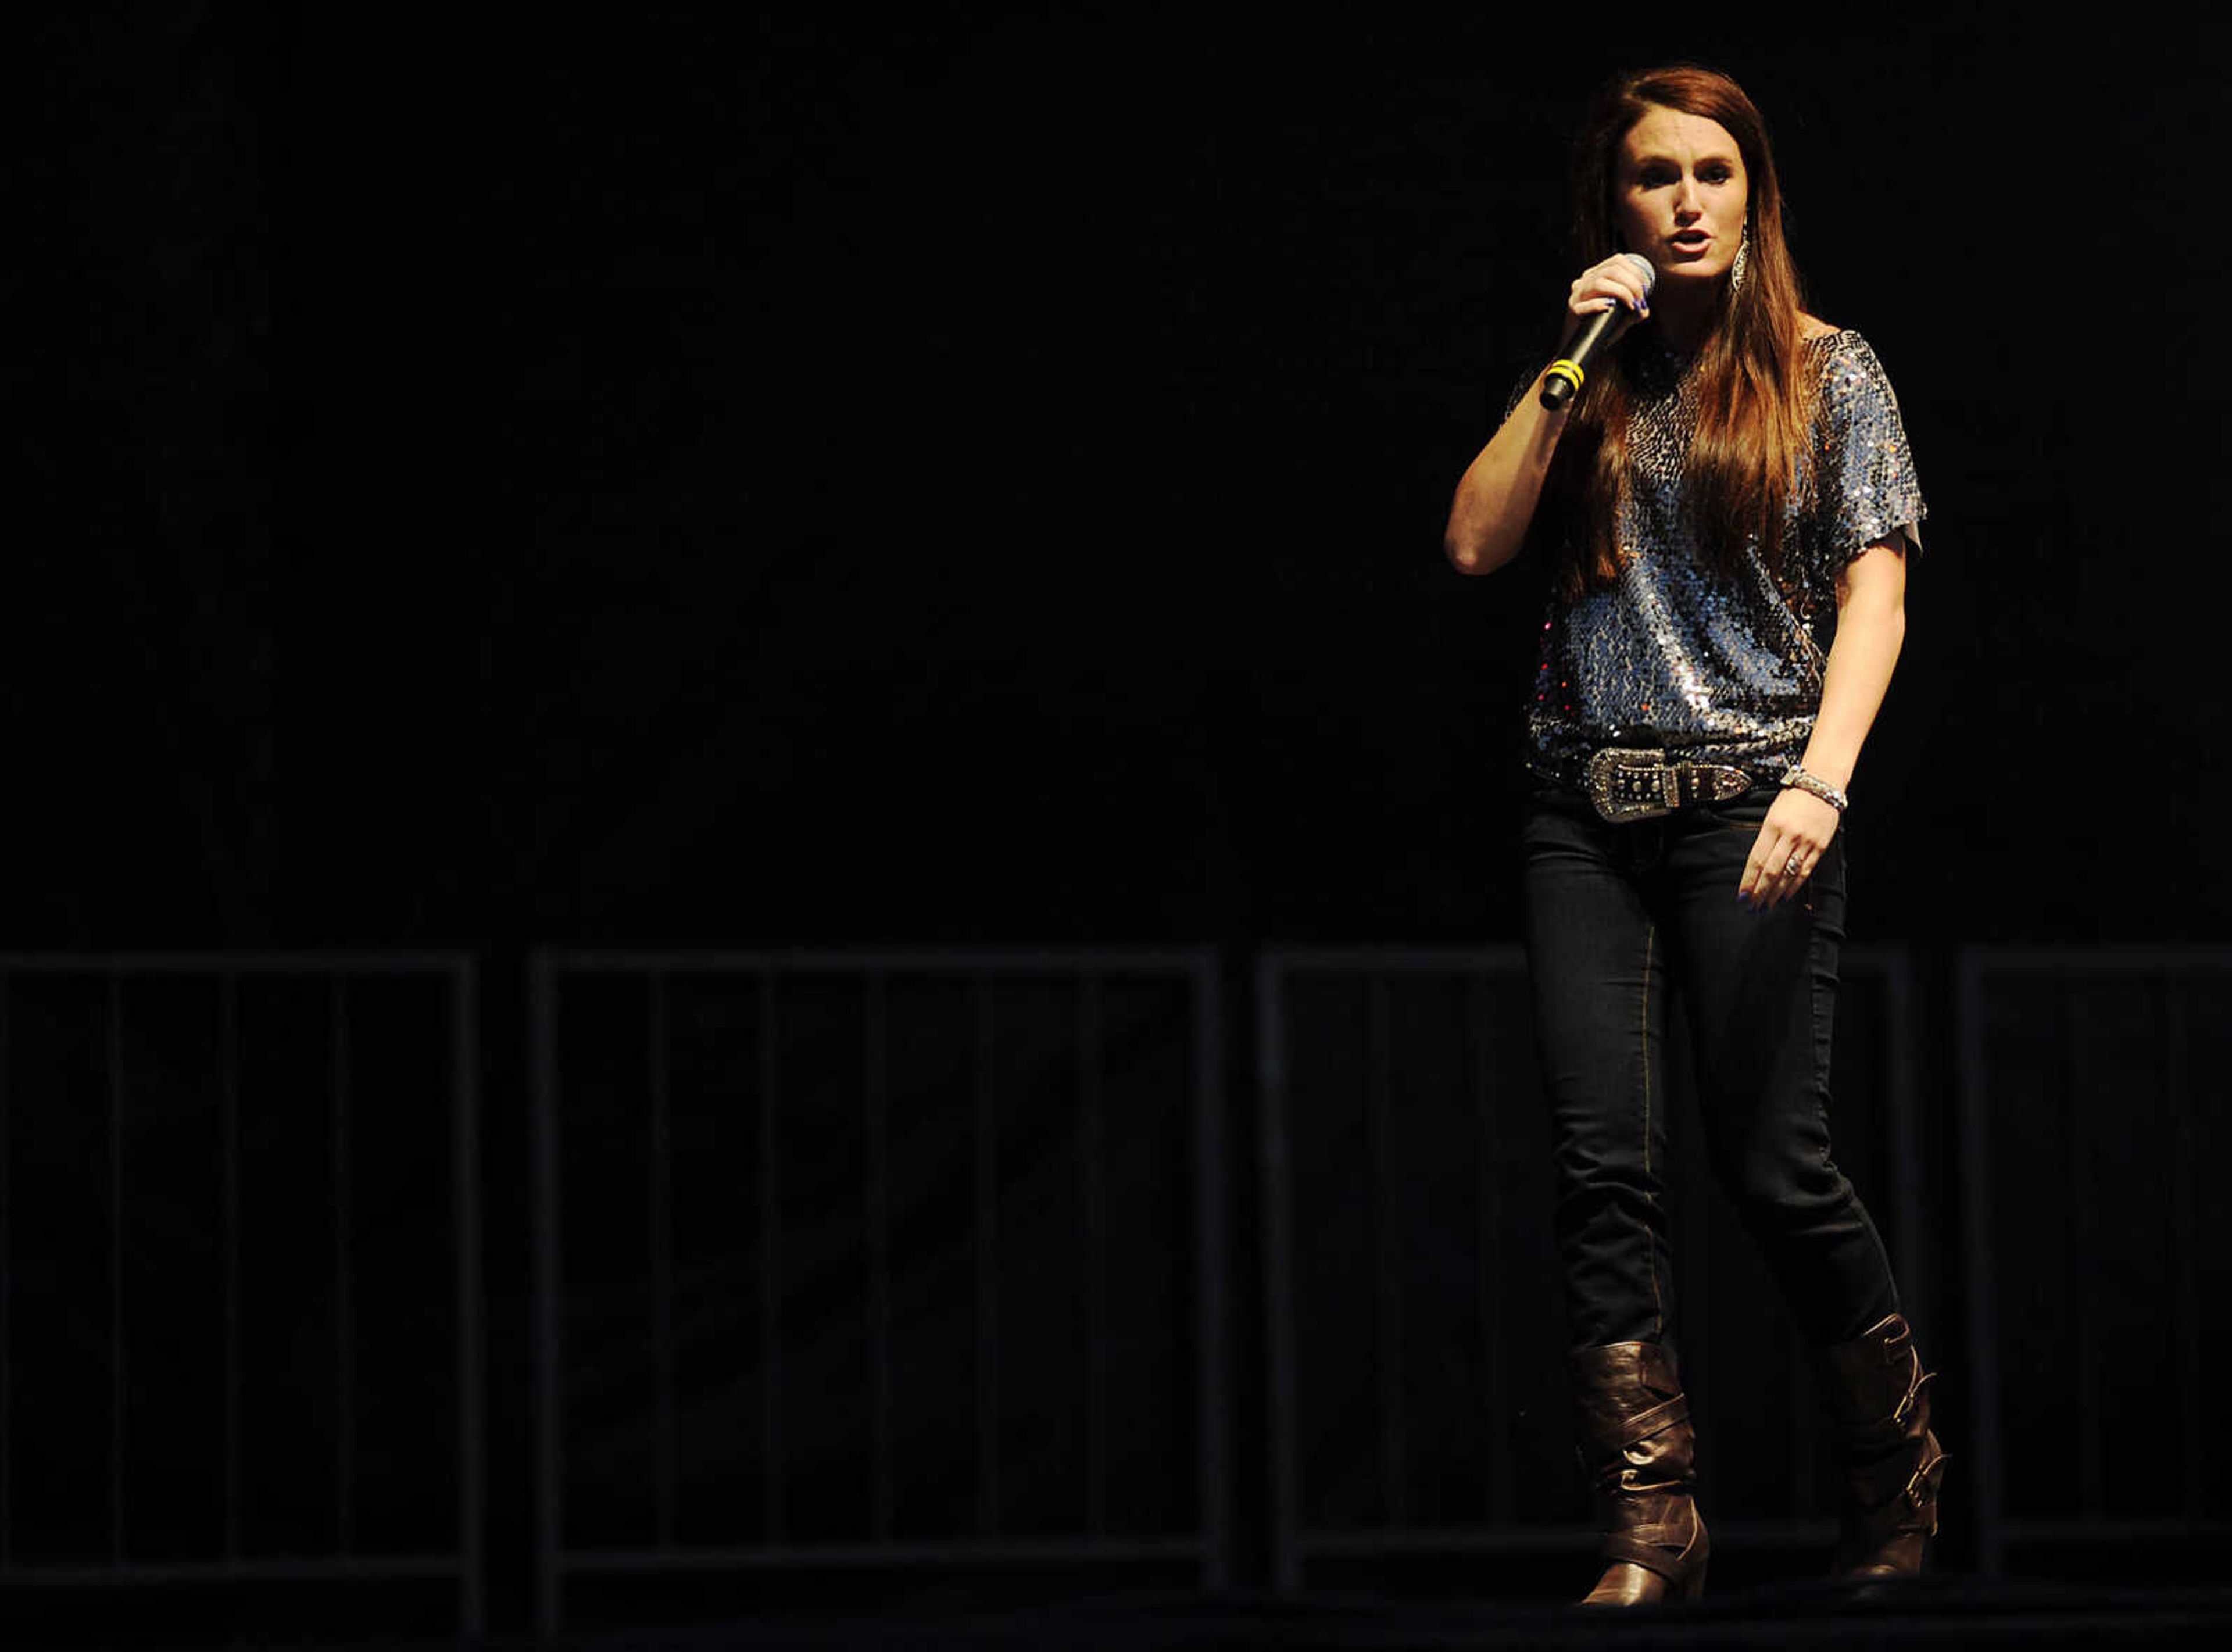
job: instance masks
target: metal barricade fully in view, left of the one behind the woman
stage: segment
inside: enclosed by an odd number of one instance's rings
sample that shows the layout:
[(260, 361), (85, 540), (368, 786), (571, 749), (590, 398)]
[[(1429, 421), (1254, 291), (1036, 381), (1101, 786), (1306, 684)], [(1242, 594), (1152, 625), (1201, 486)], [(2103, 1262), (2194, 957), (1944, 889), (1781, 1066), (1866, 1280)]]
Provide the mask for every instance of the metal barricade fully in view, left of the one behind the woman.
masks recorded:
[(533, 962), (536, 1619), (645, 1572), (1228, 1576), (1210, 953)]

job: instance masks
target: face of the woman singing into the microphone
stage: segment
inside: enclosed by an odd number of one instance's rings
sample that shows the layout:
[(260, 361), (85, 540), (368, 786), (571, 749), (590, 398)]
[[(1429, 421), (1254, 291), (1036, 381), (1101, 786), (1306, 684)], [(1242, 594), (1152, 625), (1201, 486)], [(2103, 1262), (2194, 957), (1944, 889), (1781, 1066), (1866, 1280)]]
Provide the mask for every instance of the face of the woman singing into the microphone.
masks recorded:
[(1728, 127), (1701, 114), (1654, 107), (1620, 138), (1612, 179), (1612, 228), (1658, 279), (1710, 281), (1743, 241), (1752, 183)]

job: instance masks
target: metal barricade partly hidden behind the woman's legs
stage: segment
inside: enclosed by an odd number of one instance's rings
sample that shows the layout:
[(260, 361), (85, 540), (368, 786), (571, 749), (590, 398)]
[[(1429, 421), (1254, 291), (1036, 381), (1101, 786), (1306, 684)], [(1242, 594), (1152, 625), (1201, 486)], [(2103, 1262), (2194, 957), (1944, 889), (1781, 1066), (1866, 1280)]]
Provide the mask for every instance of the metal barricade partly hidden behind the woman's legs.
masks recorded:
[[(1928, 1324), (1911, 971), (1846, 949), (1837, 1154)], [(1585, 1552), (1524, 958), (1270, 951), (1257, 973), (1272, 1581), (1312, 1560)], [(1810, 1362), (1685, 1150), (1670, 1181), (1683, 1371), (1725, 1545), (1826, 1547)]]

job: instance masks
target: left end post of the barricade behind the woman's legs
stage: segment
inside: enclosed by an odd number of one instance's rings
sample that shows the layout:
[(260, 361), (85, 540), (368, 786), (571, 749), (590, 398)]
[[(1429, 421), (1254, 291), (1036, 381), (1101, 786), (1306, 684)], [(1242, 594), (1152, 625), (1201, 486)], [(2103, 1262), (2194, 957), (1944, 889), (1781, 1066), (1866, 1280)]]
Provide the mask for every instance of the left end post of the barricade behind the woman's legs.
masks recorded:
[(1263, 1346), (1268, 1386), (1266, 1447), (1270, 1451), (1270, 1581), (1274, 1589), (1301, 1587), (1301, 1493), (1295, 1380), (1295, 1237), (1290, 1188), (1292, 1154), (1286, 1134), (1286, 982), (1288, 960), (1266, 951), (1257, 960), (1257, 1152), (1263, 1176)]

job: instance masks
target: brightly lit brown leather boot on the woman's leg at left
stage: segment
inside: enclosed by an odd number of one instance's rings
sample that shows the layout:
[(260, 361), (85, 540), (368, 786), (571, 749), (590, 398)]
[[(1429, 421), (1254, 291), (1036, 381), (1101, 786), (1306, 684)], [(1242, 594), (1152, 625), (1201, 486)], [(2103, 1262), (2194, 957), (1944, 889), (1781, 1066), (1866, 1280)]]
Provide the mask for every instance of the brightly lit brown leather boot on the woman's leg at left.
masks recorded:
[(1696, 1601), (1705, 1592), (1705, 1523), (1696, 1514), (1696, 1431), (1674, 1351), (1614, 1342), (1574, 1355), (1580, 1460), (1589, 1471), (1605, 1576), (1582, 1605)]

